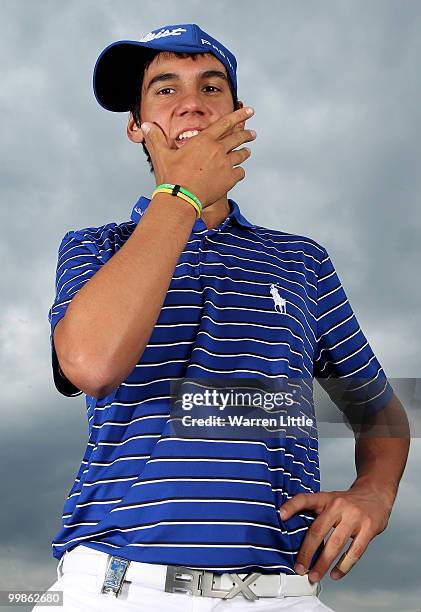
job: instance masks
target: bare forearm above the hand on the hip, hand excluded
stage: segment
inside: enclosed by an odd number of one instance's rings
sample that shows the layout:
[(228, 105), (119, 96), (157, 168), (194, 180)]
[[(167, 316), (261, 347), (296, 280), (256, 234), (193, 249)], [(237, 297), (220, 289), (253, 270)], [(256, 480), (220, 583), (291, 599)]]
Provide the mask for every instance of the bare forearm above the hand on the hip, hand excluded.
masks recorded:
[(371, 425), (365, 435), (355, 441), (357, 477), (351, 488), (374, 490), (391, 509), (410, 446), (408, 419), (405, 409), (395, 395), (387, 406), (375, 415)]

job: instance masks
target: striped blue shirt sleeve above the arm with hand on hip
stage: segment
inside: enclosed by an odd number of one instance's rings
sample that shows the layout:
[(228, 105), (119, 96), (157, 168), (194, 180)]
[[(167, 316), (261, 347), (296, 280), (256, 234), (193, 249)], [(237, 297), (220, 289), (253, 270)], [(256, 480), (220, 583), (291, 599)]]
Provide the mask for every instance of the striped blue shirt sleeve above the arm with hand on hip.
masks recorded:
[(342, 411), (372, 413), (393, 388), (374, 355), (326, 249), (317, 280), (317, 334), (313, 374)]

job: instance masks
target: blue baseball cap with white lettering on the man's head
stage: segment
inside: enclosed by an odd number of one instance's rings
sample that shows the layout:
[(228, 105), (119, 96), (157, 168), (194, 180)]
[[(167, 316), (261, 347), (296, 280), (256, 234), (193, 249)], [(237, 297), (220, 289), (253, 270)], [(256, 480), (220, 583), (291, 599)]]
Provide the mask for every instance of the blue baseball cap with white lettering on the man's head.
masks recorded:
[[(152, 30), (140, 40), (119, 40), (106, 47), (98, 57), (93, 87), (95, 98), (106, 110), (129, 111), (136, 96), (139, 75), (148, 59), (147, 49), (184, 53), (212, 53), (227, 69), (237, 97), (237, 60), (222, 43), (195, 23), (167, 25)], [(139, 74), (133, 71), (139, 66)]]

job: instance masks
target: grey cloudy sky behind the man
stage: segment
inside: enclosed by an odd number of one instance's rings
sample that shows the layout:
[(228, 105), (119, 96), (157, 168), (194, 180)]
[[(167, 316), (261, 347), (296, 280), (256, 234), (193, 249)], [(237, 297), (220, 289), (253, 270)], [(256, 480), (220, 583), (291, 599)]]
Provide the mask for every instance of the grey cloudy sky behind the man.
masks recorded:
[[(93, 96), (97, 56), (191, 22), (234, 52), (257, 139), (230, 197), (252, 222), (326, 247), (393, 385), (421, 376), (421, 2), (2, 0), (0, 13), (0, 589), (45, 589), (87, 440), (84, 397), (52, 381), (58, 245), (70, 229), (128, 220), (155, 186), (126, 114)], [(320, 446), (322, 489), (347, 488), (353, 440)], [(421, 608), (420, 458), (415, 438), (387, 530), (346, 578), (324, 579), (334, 610)]]

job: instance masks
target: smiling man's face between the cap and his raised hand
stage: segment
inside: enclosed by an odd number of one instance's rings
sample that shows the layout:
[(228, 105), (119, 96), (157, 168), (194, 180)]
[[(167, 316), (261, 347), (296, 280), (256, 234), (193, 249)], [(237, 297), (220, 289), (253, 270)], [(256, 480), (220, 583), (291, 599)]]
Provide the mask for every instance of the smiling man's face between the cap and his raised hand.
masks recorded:
[[(221, 76), (205, 76), (205, 71), (222, 72)], [(162, 74), (174, 73), (171, 78), (155, 80)], [(243, 103), (240, 102), (240, 106)], [(141, 93), (140, 123), (157, 123), (167, 137), (170, 148), (183, 143), (177, 136), (188, 129), (204, 129), (223, 115), (234, 110), (225, 66), (214, 55), (180, 58), (157, 55), (145, 71)], [(235, 129), (243, 129), (244, 123)], [(130, 116), (127, 127), (129, 138), (142, 142), (142, 130)], [(194, 136), (193, 136), (194, 138)]]

